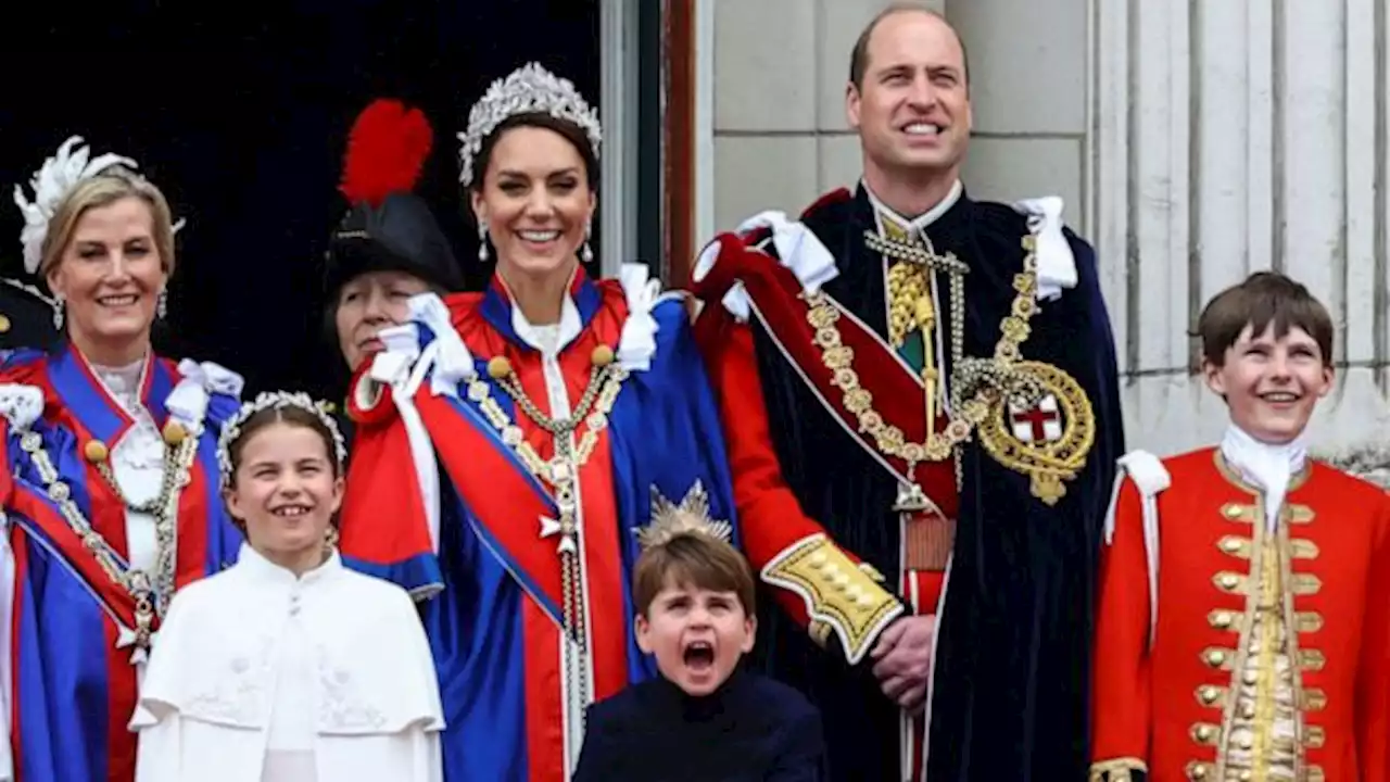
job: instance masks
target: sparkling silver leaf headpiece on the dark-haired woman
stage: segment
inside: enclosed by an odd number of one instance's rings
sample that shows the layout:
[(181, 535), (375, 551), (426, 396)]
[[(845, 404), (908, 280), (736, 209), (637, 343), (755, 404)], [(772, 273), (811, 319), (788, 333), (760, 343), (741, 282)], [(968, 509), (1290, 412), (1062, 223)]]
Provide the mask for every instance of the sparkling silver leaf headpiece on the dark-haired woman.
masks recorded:
[(459, 150), (463, 164), (459, 181), (464, 188), (471, 186), (473, 178), (478, 174), (474, 171), (474, 163), (482, 152), (482, 142), (509, 117), (531, 113), (574, 122), (588, 136), (594, 157), (599, 156), (603, 129), (599, 125), (598, 111), (591, 109), (584, 96), (574, 89), (574, 82), (556, 77), (538, 63), (527, 63), (512, 71), (507, 78), (492, 82), (482, 99), (468, 111), (468, 129), (459, 134), (459, 141), (463, 142)]

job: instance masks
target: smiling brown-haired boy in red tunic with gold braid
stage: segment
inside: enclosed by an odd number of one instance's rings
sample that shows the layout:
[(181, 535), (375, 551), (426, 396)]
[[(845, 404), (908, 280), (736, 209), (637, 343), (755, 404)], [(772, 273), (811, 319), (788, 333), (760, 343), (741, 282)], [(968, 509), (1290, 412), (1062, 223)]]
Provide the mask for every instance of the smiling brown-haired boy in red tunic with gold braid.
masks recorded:
[(1332, 319), (1258, 273), (1198, 333), (1230, 426), (1216, 448), (1120, 459), (1091, 779), (1390, 779), (1390, 495), (1304, 444)]

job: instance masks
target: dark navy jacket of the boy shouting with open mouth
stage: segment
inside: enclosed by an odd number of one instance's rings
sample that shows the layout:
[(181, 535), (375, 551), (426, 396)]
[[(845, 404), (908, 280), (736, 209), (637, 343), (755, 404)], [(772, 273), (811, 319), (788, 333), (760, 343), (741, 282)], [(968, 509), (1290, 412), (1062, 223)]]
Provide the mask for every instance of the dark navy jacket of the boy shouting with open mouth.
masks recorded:
[(589, 707), (574, 782), (820, 782), (820, 712), (787, 685), (735, 672), (691, 697), (666, 679)]

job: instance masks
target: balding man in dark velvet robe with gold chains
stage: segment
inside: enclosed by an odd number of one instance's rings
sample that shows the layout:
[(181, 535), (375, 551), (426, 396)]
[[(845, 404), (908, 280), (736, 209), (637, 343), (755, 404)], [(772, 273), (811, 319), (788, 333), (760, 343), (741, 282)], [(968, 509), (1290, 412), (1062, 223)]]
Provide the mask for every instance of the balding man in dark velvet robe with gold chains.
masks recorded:
[(760, 650), (820, 707), (835, 779), (1084, 779), (1123, 452), (1094, 250), (1061, 199), (963, 192), (969, 72), (940, 15), (869, 25), (847, 113), (858, 189), (695, 269), (739, 518), (781, 530), (745, 533), (790, 609)]

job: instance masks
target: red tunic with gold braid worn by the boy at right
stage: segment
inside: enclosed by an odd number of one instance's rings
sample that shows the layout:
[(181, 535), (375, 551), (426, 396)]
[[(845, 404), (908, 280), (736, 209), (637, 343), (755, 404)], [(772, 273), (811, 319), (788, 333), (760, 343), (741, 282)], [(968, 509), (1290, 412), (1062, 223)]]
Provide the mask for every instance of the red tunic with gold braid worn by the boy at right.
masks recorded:
[(1269, 525), (1220, 451), (1163, 468), (1104, 552), (1091, 779), (1390, 779), (1390, 495), (1308, 462)]

